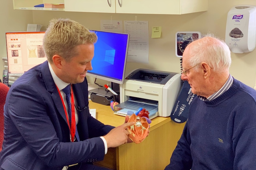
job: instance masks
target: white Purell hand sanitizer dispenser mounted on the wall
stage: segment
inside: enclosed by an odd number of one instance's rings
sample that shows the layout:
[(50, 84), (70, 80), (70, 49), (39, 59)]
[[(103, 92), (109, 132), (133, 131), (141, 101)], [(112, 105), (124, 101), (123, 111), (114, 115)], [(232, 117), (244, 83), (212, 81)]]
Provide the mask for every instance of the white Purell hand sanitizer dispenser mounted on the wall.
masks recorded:
[(226, 43), (233, 53), (247, 53), (256, 45), (256, 6), (238, 5), (227, 14)]

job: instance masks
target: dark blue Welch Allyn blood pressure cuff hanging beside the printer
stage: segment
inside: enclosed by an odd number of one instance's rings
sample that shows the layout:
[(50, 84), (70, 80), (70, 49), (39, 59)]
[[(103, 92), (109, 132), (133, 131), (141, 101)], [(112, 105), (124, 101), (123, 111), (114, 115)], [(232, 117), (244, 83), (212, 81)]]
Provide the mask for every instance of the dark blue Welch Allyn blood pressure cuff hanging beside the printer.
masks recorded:
[(187, 81), (184, 81), (178, 98), (171, 112), (171, 119), (176, 123), (184, 123), (188, 119), (189, 106), (192, 100), (196, 97), (191, 92), (191, 87)]

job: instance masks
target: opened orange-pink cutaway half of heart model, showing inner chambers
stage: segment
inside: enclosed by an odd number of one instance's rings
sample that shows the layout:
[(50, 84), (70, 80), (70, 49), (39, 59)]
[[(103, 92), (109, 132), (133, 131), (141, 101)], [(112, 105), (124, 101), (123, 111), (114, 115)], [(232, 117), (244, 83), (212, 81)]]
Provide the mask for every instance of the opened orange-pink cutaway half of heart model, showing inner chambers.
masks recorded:
[[(137, 119), (137, 117), (139, 119)], [(128, 137), (134, 143), (141, 143), (148, 135), (149, 124), (146, 118), (132, 114), (128, 122), (135, 122), (134, 125), (127, 127), (127, 131), (129, 132)]]

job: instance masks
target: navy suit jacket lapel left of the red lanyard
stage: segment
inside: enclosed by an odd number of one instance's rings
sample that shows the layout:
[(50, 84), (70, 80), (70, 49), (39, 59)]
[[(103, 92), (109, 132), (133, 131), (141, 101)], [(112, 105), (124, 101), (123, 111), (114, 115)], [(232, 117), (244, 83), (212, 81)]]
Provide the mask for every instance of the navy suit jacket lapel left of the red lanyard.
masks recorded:
[(45, 61), (44, 63), (42, 63), (41, 72), (42, 72), (42, 77), (45, 81), (45, 86), (46, 86), (48, 92), (51, 93), (51, 97), (53, 99), (53, 102), (54, 102), (59, 114), (66, 121), (66, 123), (68, 123), (59, 92), (56, 88), (56, 85), (53, 81), (53, 77), (50, 73), (48, 61)]

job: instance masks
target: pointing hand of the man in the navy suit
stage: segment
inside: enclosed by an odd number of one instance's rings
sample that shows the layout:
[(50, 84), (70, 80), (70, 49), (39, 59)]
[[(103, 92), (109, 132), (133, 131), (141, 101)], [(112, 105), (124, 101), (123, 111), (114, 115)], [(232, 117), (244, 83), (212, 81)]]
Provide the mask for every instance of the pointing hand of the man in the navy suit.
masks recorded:
[(110, 132), (103, 136), (107, 141), (108, 148), (115, 148), (127, 142), (129, 132), (126, 130), (127, 127), (132, 126), (135, 122), (124, 123), (121, 126), (115, 127)]

